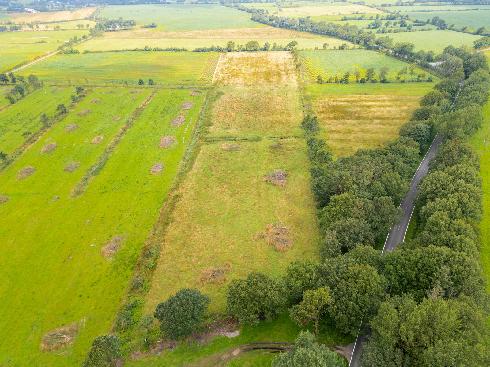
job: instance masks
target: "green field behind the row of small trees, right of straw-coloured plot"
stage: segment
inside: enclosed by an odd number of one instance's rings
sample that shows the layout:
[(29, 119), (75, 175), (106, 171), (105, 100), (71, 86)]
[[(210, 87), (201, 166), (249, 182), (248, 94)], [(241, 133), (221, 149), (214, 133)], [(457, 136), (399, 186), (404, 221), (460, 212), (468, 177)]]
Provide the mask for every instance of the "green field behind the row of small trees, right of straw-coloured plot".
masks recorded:
[[(353, 74), (360, 72), (361, 77), (366, 73), (366, 69), (375, 68), (379, 72), (380, 68), (388, 68), (388, 79), (394, 79), (396, 73), (408, 64), (392, 57), (364, 49), (356, 50), (328, 50), (328, 51), (302, 51), (299, 52), (301, 62), (301, 72), (305, 80), (317, 80), (318, 75), (327, 79), (336, 75), (342, 77), (345, 72), (350, 72), (350, 80), (355, 81)], [(417, 73), (425, 72), (416, 69)], [(430, 76), (425, 72), (426, 76)]]

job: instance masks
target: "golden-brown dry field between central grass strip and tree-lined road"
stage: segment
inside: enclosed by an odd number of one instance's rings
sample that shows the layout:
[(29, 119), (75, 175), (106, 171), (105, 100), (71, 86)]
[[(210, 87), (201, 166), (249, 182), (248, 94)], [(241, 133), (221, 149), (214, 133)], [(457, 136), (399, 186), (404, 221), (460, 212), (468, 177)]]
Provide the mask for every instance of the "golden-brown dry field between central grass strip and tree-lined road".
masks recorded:
[(317, 94), (312, 107), (322, 137), (342, 156), (397, 138), (419, 100), (407, 95)]

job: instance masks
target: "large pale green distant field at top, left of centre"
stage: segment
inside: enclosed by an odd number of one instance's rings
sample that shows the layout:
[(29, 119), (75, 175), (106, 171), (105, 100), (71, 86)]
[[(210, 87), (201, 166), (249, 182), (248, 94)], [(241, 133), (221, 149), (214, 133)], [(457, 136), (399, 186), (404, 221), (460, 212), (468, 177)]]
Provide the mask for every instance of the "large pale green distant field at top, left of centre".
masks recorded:
[(100, 13), (109, 19), (133, 19), (138, 23), (157, 23), (166, 31), (249, 28), (264, 26), (252, 22), (250, 14), (219, 4), (110, 5)]

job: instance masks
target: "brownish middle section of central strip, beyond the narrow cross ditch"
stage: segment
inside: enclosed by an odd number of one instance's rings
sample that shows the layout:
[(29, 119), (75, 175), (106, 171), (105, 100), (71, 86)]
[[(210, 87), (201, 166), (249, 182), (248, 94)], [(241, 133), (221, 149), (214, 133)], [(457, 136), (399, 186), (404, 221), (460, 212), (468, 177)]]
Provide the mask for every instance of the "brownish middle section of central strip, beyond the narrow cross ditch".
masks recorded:
[(255, 137), (302, 135), (301, 100), (297, 88), (289, 85), (224, 86), (206, 115), (213, 137)]

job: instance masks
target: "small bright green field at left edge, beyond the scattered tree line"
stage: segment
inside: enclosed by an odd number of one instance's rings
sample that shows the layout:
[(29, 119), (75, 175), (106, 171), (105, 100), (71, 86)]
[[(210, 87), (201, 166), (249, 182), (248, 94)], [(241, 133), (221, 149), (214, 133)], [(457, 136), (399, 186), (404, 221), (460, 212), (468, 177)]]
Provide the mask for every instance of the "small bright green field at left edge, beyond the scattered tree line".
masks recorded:
[[(54, 92), (53, 92), (54, 91)], [(53, 116), (59, 103), (71, 102), (71, 88), (44, 88), (25, 96), (0, 114), (0, 151), (12, 153), (26, 139), (22, 134), (35, 133), (42, 124), (39, 117)], [(28, 138), (28, 137), (27, 137)]]

